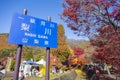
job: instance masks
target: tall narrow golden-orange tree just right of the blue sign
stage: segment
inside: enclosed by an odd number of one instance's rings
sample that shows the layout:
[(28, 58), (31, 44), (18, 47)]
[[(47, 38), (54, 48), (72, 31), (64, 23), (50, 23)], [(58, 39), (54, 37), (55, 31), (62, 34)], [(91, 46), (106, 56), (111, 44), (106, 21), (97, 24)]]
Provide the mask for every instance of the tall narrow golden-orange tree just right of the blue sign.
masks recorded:
[(57, 57), (59, 62), (64, 62), (67, 60), (70, 50), (66, 42), (65, 31), (62, 24), (58, 25), (58, 48), (51, 49), (53, 56)]

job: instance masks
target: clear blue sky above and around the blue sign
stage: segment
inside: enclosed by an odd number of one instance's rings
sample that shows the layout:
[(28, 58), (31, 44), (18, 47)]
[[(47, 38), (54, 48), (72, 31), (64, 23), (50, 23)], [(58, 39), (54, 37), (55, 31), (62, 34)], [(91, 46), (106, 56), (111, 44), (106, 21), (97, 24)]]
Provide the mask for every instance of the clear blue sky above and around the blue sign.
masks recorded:
[(84, 39), (76, 36), (70, 30), (66, 23), (60, 19), (59, 14), (62, 13), (62, 2), (64, 0), (0, 0), (0, 33), (9, 33), (12, 16), (14, 13), (22, 13), (23, 9), (27, 9), (27, 15), (46, 19), (51, 16), (51, 21), (62, 24), (65, 29), (65, 35), (68, 39)]

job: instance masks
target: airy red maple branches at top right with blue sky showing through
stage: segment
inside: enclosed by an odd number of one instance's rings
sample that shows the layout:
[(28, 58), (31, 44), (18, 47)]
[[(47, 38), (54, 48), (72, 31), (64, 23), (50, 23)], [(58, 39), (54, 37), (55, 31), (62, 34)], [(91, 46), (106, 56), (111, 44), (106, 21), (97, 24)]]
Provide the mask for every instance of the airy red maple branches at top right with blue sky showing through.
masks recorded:
[(65, 0), (61, 18), (75, 34), (92, 37), (101, 26), (120, 26), (118, 0)]

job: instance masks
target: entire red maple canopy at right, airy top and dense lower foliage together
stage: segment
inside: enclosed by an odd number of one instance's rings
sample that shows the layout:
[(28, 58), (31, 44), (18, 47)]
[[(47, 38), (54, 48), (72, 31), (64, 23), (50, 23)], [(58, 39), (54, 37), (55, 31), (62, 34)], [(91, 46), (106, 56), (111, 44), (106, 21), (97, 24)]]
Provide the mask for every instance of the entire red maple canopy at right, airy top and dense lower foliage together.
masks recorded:
[(120, 65), (120, 1), (65, 0), (63, 8), (61, 18), (75, 34), (89, 37), (96, 59)]

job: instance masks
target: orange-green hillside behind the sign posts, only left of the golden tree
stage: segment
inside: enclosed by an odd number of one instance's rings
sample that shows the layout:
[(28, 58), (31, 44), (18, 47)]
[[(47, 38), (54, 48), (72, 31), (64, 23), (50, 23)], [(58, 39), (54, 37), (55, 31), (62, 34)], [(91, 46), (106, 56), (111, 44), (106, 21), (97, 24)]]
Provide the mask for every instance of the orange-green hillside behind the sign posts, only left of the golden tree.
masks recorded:
[[(0, 58), (7, 56), (15, 56), (17, 45), (8, 44), (8, 35), (7, 33), (0, 34)], [(45, 56), (45, 48), (41, 47), (32, 47), (32, 46), (23, 46), (22, 48), (22, 57), (24, 58), (27, 53), (31, 52), (31, 55), (34, 55), (34, 58), (39, 55)]]

